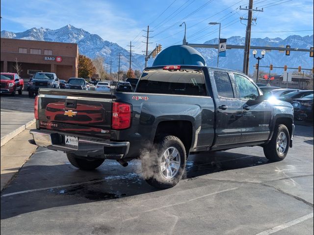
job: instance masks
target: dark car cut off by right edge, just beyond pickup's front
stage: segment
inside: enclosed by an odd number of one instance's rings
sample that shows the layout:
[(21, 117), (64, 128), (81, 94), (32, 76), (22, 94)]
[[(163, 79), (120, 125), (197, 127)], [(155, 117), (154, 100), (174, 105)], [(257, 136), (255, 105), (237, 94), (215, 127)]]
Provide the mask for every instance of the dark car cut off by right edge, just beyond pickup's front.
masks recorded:
[(293, 99), (294, 118), (313, 121), (313, 94)]

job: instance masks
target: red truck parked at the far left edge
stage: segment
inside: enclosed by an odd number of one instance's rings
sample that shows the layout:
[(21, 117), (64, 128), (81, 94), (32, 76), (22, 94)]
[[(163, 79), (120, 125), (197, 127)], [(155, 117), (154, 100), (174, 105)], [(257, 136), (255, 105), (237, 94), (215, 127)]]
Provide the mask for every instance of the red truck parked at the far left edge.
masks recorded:
[(22, 94), (24, 81), (17, 73), (1, 72), (1, 94), (15, 95), (16, 91)]

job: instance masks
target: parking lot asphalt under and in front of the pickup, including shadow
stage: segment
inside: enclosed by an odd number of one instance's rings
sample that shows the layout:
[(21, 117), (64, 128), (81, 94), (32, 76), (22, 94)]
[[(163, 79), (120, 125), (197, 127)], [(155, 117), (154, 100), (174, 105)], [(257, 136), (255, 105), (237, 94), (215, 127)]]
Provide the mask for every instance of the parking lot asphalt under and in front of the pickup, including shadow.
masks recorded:
[(86, 172), (38, 148), (1, 192), (1, 234), (313, 234), (313, 128), (293, 144), (277, 163), (261, 147), (191, 155), (166, 190), (138, 160)]

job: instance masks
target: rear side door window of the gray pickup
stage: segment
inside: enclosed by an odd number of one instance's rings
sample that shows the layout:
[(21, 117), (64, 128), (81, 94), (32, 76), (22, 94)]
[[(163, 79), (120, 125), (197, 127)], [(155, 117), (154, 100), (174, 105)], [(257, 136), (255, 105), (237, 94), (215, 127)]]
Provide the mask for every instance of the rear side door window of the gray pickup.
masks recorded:
[(216, 82), (217, 92), (220, 97), (235, 97), (228, 72), (214, 71), (214, 78)]

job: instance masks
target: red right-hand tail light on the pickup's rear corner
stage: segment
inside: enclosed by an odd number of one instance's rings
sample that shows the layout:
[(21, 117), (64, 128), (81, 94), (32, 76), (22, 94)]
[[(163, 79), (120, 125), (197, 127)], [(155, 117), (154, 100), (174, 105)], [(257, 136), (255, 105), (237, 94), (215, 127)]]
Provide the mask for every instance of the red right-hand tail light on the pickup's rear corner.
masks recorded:
[(112, 103), (112, 122), (114, 130), (129, 128), (131, 125), (131, 104), (113, 102)]

